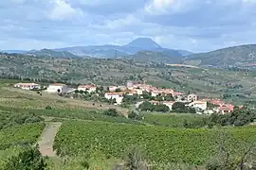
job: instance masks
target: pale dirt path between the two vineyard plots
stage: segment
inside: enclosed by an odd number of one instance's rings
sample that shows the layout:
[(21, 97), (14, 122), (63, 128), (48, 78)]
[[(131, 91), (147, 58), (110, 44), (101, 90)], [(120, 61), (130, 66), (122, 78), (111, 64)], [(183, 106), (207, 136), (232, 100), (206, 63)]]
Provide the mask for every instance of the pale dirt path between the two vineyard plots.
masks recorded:
[(59, 130), (59, 127), (62, 126), (62, 123), (58, 122), (50, 122), (46, 125), (40, 140), (39, 144), (39, 151), (43, 156), (54, 157), (56, 156), (55, 152), (53, 151), (53, 143), (55, 136)]

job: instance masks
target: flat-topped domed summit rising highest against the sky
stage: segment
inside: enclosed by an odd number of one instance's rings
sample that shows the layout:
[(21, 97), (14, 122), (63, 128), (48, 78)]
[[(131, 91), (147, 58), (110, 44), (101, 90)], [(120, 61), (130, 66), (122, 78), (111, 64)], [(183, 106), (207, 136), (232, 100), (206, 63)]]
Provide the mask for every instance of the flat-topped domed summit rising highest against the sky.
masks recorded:
[(148, 49), (148, 50), (162, 48), (158, 43), (154, 42), (150, 38), (137, 38), (136, 40), (124, 46), (133, 46), (133, 47), (138, 47), (138, 48)]

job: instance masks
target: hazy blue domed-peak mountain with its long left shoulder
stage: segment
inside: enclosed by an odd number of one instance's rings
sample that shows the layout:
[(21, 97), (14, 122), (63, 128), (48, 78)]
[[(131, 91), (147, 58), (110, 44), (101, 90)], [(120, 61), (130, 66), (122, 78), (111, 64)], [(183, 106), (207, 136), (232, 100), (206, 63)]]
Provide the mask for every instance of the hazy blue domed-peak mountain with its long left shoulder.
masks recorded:
[(88, 46), (73, 46), (66, 48), (54, 49), (55, 51), (68, 51), (77, 56), (90, 56), (94, 58), (115, 58), (127, 57), (137, 54), (139, 51), (154, 51), (170, 53), (172, 56), (183, 57), (177, 50), (163, 48), (152, 39), (138, 38), (125, 45), (88, 45)]

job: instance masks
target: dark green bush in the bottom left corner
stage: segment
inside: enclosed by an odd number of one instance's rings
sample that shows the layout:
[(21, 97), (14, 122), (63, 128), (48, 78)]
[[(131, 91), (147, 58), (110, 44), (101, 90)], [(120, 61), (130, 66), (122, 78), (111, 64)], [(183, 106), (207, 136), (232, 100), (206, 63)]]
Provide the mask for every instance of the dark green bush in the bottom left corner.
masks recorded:
[(37, 147), (24, 146), (23, 150), (10, 157), (2, 168), (3, 170), (45, 170), (46, 165), (46, 159), (42, 157)]

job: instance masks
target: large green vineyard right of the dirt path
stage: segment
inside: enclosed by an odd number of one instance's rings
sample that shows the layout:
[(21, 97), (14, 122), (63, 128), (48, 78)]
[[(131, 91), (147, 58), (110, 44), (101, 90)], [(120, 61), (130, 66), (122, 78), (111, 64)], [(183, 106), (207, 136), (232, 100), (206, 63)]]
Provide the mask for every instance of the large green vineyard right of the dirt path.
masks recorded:
[[(224, 128), (227, 146), (232, 156), (239, 155), (244, 146), (256, 142), (255, 127)], [(119, 158), (124, 150), (142, 146), (151, 161), (202, 164), (216, 154), (219, 131), (215, 129), (184, 129), (146, 127), (102, 122), (68, 121), (55, 139), (57, 153), (79, 154), (90, 149)]]

